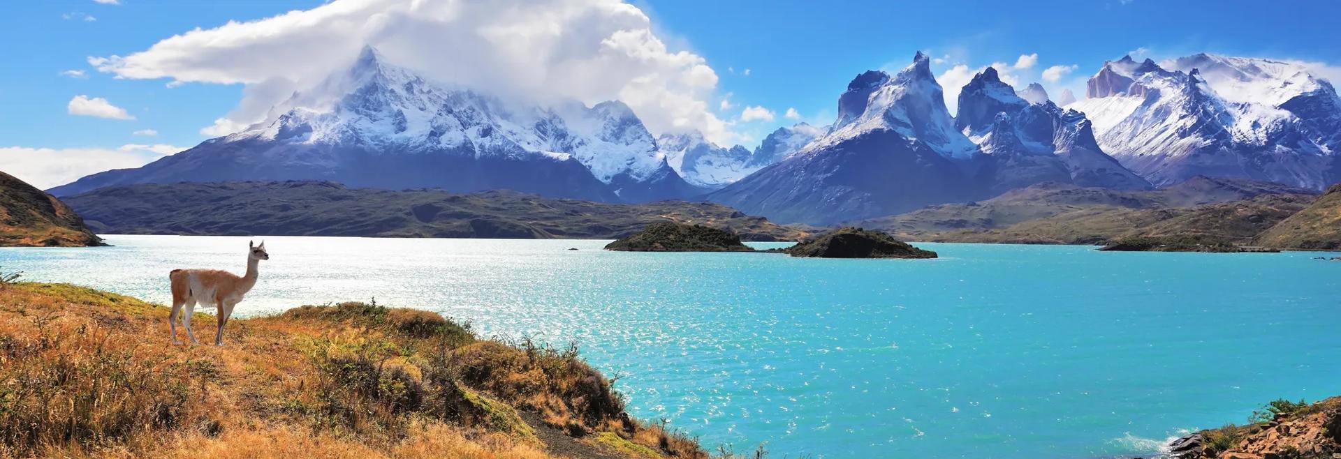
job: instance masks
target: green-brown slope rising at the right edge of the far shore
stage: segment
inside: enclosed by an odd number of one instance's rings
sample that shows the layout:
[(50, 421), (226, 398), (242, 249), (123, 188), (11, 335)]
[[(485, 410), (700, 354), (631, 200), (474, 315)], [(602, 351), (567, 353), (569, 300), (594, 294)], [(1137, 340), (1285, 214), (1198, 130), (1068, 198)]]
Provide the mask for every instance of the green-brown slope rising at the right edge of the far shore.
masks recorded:
[(1258, 245), (1298, 249), (1341, 249), (1341, 183), (1311, 205), (1257, 238)]

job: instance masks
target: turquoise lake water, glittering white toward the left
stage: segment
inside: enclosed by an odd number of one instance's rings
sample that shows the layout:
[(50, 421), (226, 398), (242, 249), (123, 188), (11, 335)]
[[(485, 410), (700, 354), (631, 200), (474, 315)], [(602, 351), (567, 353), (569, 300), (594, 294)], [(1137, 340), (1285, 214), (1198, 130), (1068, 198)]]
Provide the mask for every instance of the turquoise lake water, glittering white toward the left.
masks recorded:
[[(1341, 395), (1341, 262), (1318, 253), (920, 244), (941, 258), (904, 261), (267, 240), (239, 316), (375, 297), (485, 336), (577, 340), (624, 376), (636, 416), (778, 458), (1151, 455), (1267, 400)], [(169, 269), (241, 272), (247, 244), (107, 241), (0, 249), (0, 270), (166, 302)]]

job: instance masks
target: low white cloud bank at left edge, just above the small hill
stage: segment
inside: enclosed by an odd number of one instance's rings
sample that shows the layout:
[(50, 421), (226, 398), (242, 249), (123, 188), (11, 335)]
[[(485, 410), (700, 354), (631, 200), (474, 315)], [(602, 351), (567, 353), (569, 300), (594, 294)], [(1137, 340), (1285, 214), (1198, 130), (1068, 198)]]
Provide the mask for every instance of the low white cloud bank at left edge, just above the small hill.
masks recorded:
[(66, 185), (111, 169), (139, 167), (185, 149), (166, 145), (125, 145), (117, 149), (0, 147), (4, 171), (39, 189)]

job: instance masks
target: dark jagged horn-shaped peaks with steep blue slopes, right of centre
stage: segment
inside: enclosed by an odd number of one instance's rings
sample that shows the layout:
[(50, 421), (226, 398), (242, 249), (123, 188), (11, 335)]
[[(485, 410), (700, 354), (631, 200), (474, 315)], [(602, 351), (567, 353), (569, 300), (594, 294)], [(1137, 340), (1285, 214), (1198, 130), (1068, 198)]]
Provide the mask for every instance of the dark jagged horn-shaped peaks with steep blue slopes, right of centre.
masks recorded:
[(775, 221), (834, 223), (1041, 181), (1149, 186), (1098, 149), (1082, 114), (1030, 104), (995, 70), (959, 100), (955, 119), (921, 52), (896, 75), (864, 72), (823, 135), (708, 198)]

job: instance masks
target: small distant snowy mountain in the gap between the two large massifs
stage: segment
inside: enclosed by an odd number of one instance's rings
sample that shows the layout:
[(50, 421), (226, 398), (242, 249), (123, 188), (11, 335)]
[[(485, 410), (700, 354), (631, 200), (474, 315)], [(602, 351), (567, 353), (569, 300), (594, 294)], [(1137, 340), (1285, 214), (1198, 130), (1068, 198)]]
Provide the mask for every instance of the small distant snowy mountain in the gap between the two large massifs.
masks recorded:
[(751, 165), (751, 153), (746, 147), (717, 146), (699, 131), (662, 134), (657, 145), (670, 167), (703, 191), (720, 189), (762, 167)]

